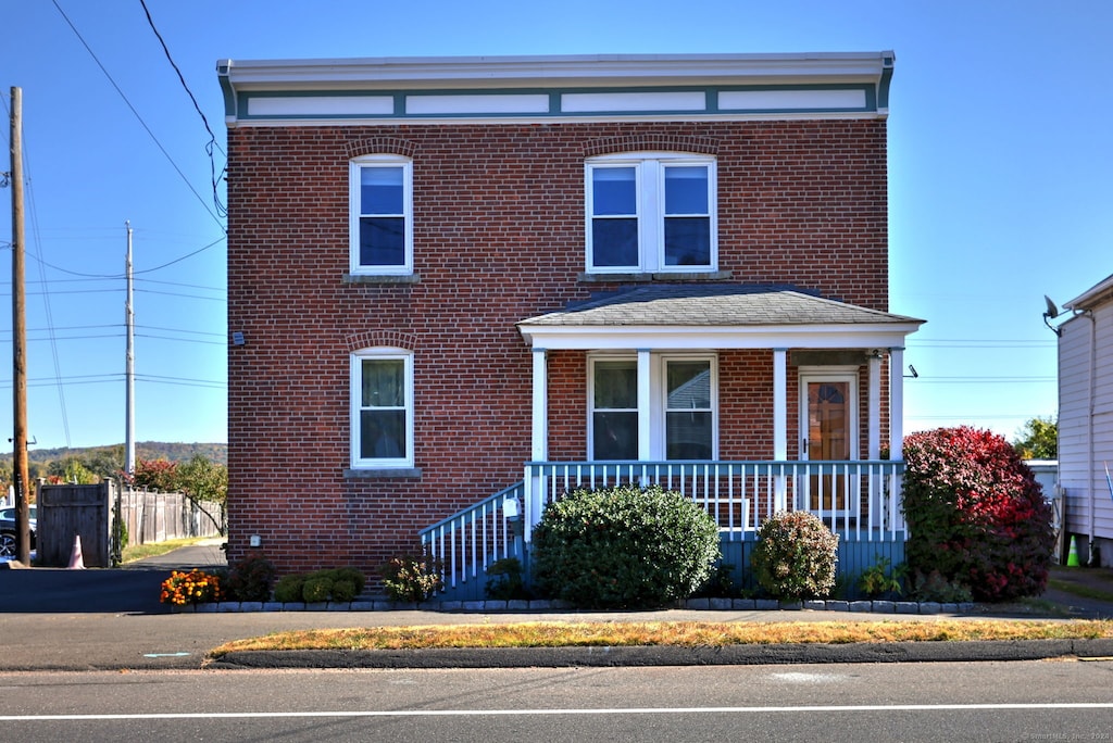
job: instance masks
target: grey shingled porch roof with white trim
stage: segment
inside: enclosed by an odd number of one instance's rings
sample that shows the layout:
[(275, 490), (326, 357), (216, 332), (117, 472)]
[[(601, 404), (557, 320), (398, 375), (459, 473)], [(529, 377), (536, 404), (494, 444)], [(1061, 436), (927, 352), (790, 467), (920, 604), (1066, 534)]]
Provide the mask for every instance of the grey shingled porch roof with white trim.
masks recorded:
[(903, 348), (924, 320), (795, 287), (695, 284), (620, 290), (524, 319), (534, 348)]

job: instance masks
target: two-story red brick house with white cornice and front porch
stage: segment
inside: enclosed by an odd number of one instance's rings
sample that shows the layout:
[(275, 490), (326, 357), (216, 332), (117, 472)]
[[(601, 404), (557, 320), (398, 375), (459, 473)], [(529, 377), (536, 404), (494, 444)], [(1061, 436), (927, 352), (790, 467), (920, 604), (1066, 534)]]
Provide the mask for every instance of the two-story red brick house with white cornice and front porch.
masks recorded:
[(900, 551), (893, 61), (219, 62), (229, 558), (371, 571), (421, 535), (474, 592), (615, 479), (725, 546), (807, 508)]

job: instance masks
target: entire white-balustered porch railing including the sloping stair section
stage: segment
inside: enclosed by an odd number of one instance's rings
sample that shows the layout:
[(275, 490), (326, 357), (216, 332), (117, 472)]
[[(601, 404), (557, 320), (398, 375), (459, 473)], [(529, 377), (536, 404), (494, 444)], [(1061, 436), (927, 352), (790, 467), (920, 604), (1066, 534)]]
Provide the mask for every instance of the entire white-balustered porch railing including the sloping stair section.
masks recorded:
[[(846, 542), (904, 541), (903, 462), (530, 462), (524, 481), (421, 531), (446, 590), (479, 581), (487, 565), (522, 557), (520, 533), (546, 505), (580, 487), (658, 484), (692, 498), (742, 541), (779, 511), (816, 514)], [(520, 532), (519, 532), (520, 529)], [(752, 535), (750, 536), (752, 538)]]

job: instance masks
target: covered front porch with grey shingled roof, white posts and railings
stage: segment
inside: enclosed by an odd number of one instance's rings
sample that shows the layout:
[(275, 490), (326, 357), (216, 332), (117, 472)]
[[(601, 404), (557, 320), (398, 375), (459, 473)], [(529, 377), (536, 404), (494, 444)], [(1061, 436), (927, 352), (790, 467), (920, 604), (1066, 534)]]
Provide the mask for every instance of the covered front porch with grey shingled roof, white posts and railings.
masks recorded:
[[(519, 324), (532, 358), (523, 479), (422, 533), (446, 585), (526, 557), (579, 487), (659, 484), (719, 524), (742, 571), (762, 521), (816, 514), (839, 572), (903, 559), (904, 341), (920, 320), (784, 287), (651, 285)], [(482, 597), (470, 596), (470, 597)]]

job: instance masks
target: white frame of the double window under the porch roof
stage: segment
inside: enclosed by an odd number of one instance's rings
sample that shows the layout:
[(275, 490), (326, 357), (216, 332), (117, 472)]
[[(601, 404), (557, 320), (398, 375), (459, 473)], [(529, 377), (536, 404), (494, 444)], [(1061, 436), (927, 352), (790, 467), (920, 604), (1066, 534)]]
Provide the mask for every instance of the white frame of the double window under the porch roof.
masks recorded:
[[(595, 363), (629, 361), (637, 359), (633, 354), (591, 354), (588, 356), (588, 460), (594, 462), (595, 432)], [(711, 394), (711, 460), (719, 458), (719, 358), (715, 353), (660, 353), (650, 354), (650, 399), (646, 405), (638, 400), (638, 413), (648, 415), (650, 420), (650, 460), (666, 462), (668, 445), (668, 365), (670, 361), (707, 361), (710, 367)], [(677, 462), (681, 462), (677, 459)]]

